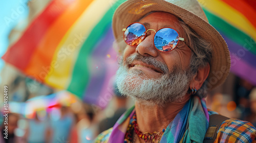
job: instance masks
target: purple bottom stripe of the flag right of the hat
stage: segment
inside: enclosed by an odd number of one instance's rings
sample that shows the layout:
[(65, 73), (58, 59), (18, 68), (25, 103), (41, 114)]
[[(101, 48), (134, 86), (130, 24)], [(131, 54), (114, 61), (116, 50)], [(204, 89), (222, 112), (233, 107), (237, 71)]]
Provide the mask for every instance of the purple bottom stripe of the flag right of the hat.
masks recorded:
[(230, 53), (231, 67), (230, 71), (241, 78), (250, 81), (256, 85), (256, 68), (246, 63), (243, 59)]

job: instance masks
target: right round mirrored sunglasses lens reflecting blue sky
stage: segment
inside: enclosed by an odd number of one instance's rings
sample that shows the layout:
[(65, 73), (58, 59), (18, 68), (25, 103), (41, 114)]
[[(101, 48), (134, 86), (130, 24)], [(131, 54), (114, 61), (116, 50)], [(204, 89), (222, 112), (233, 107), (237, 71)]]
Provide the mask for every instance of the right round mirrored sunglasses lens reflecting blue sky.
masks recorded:
[(154, 37), (154, 44), (159, 51), (169, 52), (175, 49), (179, 42), (179, 34), (172, 28), (162, 28)]

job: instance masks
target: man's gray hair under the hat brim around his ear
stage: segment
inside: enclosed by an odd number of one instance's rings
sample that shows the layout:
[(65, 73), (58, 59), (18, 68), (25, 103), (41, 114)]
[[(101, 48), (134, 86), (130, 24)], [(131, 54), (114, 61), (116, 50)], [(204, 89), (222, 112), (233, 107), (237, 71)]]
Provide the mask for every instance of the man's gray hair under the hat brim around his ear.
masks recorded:
[[(178, 19), (187, 36), (186, 42), (194, 51), (190, 58), (190, 71), (193, 75), (195, 75), (199, 68), (206, 66), (207, 63), (210, 63), (212, 58), (212, 45), (200, 37), (193, 29), (187, 26), (182, 19)], [(198, 89), (196, 96), (204, 98), (206, 95), (207, 81), (205, 80), (202, 87)]]

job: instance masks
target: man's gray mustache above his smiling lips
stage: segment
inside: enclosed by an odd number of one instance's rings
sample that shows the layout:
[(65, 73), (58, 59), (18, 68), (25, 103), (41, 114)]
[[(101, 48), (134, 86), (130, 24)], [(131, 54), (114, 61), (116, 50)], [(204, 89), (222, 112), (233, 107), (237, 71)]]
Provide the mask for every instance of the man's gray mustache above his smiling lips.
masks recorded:
[(154, 67), (161, 69), (164, 74), (169, 73), (169, 69), (166, 64), (156, 60), (155, 58), (153, 58), (151, 56), (145, 57), (145, 56), (142, 56), (142, 55), (136, 53), (136, 54), (133, 54), (133, 55), (127, 57), (125, 60), (125, 63), (128, 65), (128, 64), (131, 64), (133, 61), (141, 61), (148, 65), (153, 65)]

